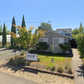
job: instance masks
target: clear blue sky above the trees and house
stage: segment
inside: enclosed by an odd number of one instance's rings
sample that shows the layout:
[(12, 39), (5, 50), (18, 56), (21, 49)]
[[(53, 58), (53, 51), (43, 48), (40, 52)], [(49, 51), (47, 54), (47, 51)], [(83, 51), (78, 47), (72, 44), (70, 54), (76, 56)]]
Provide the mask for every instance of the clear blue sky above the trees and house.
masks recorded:
[(0, 0), (0, 25), (11, 29), (13, 16), (21, 25), (23, 14), (27, 29), (50, 21), (53, 30), (73, 30), (84, 24), (84, 0)]

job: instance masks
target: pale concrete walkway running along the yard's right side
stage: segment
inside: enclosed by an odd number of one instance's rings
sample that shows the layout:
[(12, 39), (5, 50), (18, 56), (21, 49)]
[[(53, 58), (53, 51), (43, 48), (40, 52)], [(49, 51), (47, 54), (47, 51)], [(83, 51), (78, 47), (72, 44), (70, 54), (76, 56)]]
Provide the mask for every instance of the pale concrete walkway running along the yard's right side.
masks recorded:
[(75, 75), (75, 83), (76, 84), (84, 84), (84, 71), (81, 69), (82, 61), (79, 58), (80, 55), (78, 54), (77, 49), (72, 48), (73, 52), (73, 68), (74, 68), (74, 75)]

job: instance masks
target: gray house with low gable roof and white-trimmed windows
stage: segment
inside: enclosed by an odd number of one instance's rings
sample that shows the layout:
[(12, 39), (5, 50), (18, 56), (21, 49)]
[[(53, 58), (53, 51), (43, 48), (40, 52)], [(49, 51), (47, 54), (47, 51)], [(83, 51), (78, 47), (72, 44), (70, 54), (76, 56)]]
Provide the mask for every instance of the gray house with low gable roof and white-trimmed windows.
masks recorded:
[[(62, 30), (63, 31), (63, 30)], [(66, 31), (66, 30), (64, 30)], [(68, 32), (68, 30), (66, 32), (64, 32), (63, 34), (59, 34), (59, 30), (56, 31), (50, 31), (50, 32), (46, 32), (45, 33), (45, 37), (40, 38), (38, 41), (39, 42), (47, 42), (47, 44), (49, 44), (49, 48), (47, 50), (45, 50), (44, 52), (52, 52), (52, 45), (54, 46), (54, 52), (57, 53), (61, 53), (62, 49), (59, 47), (60, 43), (65, 43), (70, 40), (71, 36), (71, 32)]]

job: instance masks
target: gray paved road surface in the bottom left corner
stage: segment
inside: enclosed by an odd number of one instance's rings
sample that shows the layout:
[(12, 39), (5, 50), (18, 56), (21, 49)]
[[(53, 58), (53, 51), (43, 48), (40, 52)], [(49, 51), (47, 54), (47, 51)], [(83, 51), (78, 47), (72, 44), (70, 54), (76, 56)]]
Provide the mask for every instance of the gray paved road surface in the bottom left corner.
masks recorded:
[(0, 84), (37, 84), (37, 83), (0, 72)]

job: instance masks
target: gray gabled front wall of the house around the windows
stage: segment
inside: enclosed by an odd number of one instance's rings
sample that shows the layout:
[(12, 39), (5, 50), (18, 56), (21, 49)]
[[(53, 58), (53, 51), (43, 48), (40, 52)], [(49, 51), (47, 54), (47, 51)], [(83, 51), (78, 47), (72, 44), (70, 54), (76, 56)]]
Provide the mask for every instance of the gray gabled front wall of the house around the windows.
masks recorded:
[[(57, 34), (54, 34), (54, 33), (47, 33), (45, 35), (45, 37), (42, 37), (42, 38), (48, 38), (48, 44), (49, 44), (49, 48), (47, 50), (45, 50), (45, 52), (52, 52), (52, 45), (53, 45), (53, 38), (65, 38), (63, 36), (60, 36), (60, 35), (57, 35)], [(67, 38), (68, 39), (68, 38)], [(40, 39), (38, 40), (40, 41)], [(57, 52), (57, 53), (61, 53), (62, 52), (62, 49), (58, 46), (54, 46), (54, 52)]]

